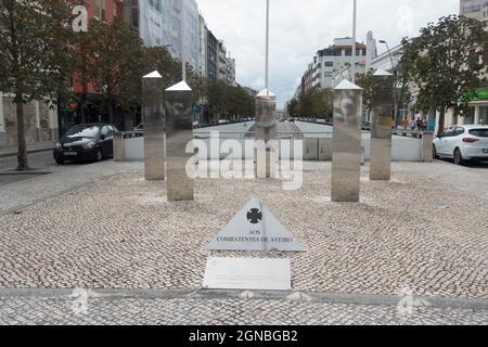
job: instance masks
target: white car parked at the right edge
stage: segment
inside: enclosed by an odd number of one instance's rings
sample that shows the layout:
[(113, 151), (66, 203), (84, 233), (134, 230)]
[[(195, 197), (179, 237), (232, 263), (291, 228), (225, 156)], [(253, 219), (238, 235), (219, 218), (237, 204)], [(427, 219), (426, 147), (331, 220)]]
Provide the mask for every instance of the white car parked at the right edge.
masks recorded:
[(434, 140), (434, 157), (452, 158), (457, 165), (467, 160), (488, 160), (488, 126), (453, 126)]

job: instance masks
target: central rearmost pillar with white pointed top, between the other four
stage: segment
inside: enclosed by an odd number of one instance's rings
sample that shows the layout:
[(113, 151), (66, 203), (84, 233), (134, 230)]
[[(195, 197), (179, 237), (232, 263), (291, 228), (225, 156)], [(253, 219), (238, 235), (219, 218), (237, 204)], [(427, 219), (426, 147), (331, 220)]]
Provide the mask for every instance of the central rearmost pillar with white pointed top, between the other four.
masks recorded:
[(277, 95), (268, 89), (256, 97), (256, 178), (277, 177)]

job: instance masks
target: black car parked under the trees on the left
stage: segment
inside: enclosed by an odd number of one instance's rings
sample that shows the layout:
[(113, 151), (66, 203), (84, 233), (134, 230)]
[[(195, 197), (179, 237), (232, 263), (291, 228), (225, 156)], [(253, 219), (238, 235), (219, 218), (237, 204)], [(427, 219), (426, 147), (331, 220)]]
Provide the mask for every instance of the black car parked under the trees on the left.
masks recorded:
[(114, 156), (114, 133), (117, 129), (108, 124), (84, 124), (70, 128), (54, 149), (54, 160), (95, 160)]

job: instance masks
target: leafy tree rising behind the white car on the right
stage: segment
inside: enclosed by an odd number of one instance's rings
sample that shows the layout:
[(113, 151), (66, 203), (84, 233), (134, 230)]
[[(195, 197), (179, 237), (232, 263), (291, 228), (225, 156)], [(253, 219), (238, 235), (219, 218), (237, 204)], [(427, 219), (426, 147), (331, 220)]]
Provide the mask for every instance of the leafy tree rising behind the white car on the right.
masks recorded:
[(439, 134), (447, 110), (465, 108), (468, 95), (480, 85), (487, 35), (481, 22), (451, 15), (428, 24), (406, 46), (414, 56), (412, 80), (420, 90), (418, 106), (439, 111)]

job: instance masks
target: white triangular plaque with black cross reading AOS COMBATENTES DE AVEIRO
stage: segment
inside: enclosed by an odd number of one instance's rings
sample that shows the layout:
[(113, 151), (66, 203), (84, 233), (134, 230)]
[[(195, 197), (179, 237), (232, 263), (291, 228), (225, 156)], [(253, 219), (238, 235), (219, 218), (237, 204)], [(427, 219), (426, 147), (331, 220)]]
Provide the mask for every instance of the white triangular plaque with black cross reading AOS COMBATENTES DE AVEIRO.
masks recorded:
[(256, 198), (204, 247), (206, 250), (305, 252), (277, 218)]

